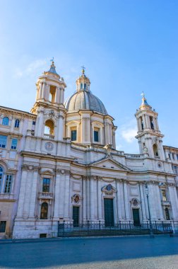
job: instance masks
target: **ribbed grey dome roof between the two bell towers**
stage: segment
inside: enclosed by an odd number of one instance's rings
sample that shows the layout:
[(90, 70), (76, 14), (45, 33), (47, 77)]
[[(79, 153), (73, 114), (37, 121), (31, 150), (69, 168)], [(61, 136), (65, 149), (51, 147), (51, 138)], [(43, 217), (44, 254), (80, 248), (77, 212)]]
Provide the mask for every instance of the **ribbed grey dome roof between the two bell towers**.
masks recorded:
[(64, 105), (69, 111), (88, 109), (107, 115), (105, 105), (90, 91), (78, 91), (74, 93), (66, 100)]

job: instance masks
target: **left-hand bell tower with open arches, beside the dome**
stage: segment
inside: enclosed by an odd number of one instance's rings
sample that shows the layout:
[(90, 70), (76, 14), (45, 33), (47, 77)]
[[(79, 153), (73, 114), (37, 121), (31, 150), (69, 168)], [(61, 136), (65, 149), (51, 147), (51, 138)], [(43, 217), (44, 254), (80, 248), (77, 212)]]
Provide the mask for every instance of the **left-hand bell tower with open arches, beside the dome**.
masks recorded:
[(64, 137), (64, 79), (57, 74), (54, 59), (49, 71), (44, 71), (36, 83), (35, 105), (31, 110), (37, 115), (35, 137), (62, 141)]

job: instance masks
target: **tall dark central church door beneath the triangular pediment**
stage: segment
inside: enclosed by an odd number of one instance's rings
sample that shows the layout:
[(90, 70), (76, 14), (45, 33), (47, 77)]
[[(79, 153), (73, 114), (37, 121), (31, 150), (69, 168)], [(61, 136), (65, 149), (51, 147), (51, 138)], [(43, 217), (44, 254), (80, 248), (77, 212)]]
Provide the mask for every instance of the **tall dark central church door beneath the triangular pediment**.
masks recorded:
[(104, 199), (105, 208), (105, 226), (114, 226), (114, 211), (113, 211), (113, 199)]

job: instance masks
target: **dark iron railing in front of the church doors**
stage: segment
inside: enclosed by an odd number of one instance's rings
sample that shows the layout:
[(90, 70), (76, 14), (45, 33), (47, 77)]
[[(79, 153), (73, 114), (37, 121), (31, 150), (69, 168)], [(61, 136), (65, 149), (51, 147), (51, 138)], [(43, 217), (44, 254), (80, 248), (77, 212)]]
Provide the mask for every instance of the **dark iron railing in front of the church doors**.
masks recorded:
[[(177, 224), (178, 227), (178, 224)], [(172, 234), (174, 231), (171, 221), (142, 222), (134, 224), (131, 221), (113, 222), (82, 222), (76, 225), (70, 222), (58, 222), (58, 236), (97, 236), (97, 235), (126, 235), (126, 234)]]

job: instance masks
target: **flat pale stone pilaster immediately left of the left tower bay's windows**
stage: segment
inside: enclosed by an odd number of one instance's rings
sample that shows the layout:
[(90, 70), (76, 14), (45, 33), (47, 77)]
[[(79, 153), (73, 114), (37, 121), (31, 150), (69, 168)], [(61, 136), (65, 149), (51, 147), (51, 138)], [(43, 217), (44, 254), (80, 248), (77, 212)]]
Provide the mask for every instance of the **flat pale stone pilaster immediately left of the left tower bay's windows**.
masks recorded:
[(35, 217), (35, 205), (37, 200), (37, 178), (38, 178), (38, 169), (33, 172), (32, 175), (32, 189), (31, 189), (31, 198), (30, 198), (30, 212), (29, 217)]

